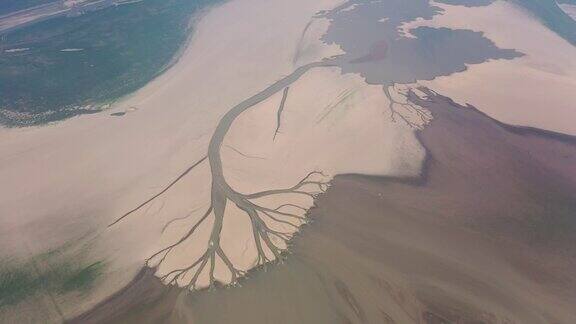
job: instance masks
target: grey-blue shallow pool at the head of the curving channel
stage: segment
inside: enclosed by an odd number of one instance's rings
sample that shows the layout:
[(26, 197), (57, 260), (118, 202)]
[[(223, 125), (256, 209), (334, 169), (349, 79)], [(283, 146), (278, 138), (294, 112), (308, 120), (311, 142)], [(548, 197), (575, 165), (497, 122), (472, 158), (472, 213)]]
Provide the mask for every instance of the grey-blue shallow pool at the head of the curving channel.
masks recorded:
[(325, 14), (332, 23), (324, 41), (346, 52), (344, 73), (359, 73), (368, 83), (385, 86), (431, 80), (464, 71), (466, 64), (522, 55), (497, 48), (470, 30), (420, 27), (412, 37), (400, 34), (403, 23), (441, 12), (427, 0), (352, 0)]

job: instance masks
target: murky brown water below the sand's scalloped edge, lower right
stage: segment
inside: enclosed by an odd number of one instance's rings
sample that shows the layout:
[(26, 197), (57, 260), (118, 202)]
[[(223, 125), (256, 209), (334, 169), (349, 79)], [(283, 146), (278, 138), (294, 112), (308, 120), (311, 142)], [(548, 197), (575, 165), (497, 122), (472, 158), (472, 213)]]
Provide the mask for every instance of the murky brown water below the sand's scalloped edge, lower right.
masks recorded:
[(420, 104), (420, 179), (339, 176), (285, 263), (243, 287), (188, 295), (143, 272), (77, 321), (576, 322), (575, 139)]

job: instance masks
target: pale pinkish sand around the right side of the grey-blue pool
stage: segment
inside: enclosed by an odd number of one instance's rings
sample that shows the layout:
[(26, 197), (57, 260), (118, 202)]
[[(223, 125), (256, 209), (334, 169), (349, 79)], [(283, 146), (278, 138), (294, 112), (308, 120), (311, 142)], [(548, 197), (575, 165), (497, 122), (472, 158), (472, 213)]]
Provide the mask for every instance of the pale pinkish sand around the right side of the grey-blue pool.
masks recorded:
[[(472, 65), (462, 73), (421, 84), (461, 103), (470, 103), (506, 123), (576, 134), (576, 47), (520, 7), (496, 1), (486, 7), (450, 6), (417, 26), (481, 31), (500, 48), (525, 56)], [(462, 19), (466, 17), (466, 19)]]

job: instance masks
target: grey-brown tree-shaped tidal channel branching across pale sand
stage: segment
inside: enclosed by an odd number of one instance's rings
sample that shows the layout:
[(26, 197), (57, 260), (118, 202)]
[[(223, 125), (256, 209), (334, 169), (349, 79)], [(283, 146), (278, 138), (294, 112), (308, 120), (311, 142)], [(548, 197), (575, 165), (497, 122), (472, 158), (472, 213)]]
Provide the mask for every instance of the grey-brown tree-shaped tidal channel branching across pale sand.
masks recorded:
[[(175, 248), (186, 242), (195, 233), (197, 233), (198, 228), (203, 223), (207, 222), (209, 219), (212, 219), (211, 233), (204, 252), (201, 253), (199, 257), (191, 259), (187, 266), (166, 272), (161, 276), (161, 279), (166, 284), (186, 287), (189, 290), (213, 287), (217, 281), (222, 281), (221, 279), (217, 279), (215, 276), (217, 261), (221, 261), (221, 263), (223, 263), (227, 270), (230, 272), (229, 281), (221, 283), (232, 285), (236, 284), (238, 279), (245, 275), (245, 271), (240, 270), (235, 266), (235, 264), (230, 260), (229, 256), (222, 249), (220, 241), (224, 217), (226, 217), (226, 205), (228, 203), (233, 203), (235, 206), (237, 206), (250, 220), (253, 240), (257, 250), (257, 260), (254, 264), (254, 267), (265, 265), (272, 261), (281, 260), (282, 252), (285, 250), (286, 243), (292, 238), (292, 235), (296, 232), (298, 227), (306, 222), (304, 220), (304, 213), (306, 209), (297, 204), (290, 203), (282, 204), (274, 208), (265, 207), (258, 204), (256, 201), (261, 198), (282, 194), (296, 194), (315, 198), (316, 195), (324, 192), (328, 188), (328, 182), (325, 180), (327, 177), (320, 171), (312, 171), (306, 174), (298, 183), (289, 188), (265, 190), (249, 194), (240, 193), (232, 188), (224, 178), (220, 151), (226, 134), (232, 127), (234, 121), (243, 112), (270, 98), (272, 95), (278, 93), (279, 91), (284, 91), (284, 93), (287, 93), (287, 90), (285, 89), (287, 89), (292, 83), (297, 81), (310, 69), (335, 65), (336, 64), (330, 60), (324, 60), (321, 62), (310, 63), (301, 66), (297, 68), (292, 74), (275, 82), (258, 94), (244, 100), (243, 102), (233, 107), (219, 121), (210, 139), (208, 153), (205, 157), (196, 161), (159, 193), (155, 194), (154, 196), (144, 201), (142, 204), (138, 205), (136, 208), (122, 215), (109, 226), (118, 224), (128, 216), (134, 214), (144, 206), (159, 198), (177, 182), (183, 179), (190, 171), (205, 161), (208, 161), (210, 164), (210, 172), (212, 177), (209, 207), (183, 236), (181, 236), (174, 243), (151, 255), (146, 260), (146, 265), (151, 268), (158, 268), (163, 264), (163, 262), (166, 261), (166, 259)], [(285, 100), (285, 98), (283, 100)], [(237, 214), (234, 214), (232, 217), (236, 217), (236, 215)], [(276, 229), (277, 227), (271, 226), (271, 224), (281, 224), (284, 225), (283, 228), (292, 228), (292, 230), (278, 230)], [(207, 282), (201, 282), (200, 280), (203, 273), (204, 275), (208, 275)]]

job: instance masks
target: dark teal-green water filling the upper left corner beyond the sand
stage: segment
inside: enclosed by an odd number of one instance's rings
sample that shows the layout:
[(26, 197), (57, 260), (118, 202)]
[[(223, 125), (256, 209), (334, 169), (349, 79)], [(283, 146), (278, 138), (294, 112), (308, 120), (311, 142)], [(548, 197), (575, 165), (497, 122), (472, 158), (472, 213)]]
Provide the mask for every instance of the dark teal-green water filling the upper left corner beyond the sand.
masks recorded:
[(193, 15), (215, 2), (144, 0), (5, 35), (0, 124), (37, 125), (92, 113), (137, 90), (169, 66), (189, 37)]

